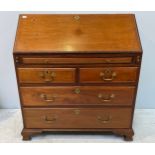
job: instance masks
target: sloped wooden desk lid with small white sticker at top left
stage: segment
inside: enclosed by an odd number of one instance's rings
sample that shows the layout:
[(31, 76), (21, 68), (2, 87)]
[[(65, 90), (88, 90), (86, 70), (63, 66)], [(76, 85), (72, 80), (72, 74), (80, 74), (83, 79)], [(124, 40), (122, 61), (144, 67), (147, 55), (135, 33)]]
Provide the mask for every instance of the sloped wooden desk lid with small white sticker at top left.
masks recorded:
[(19, 16), (15, 53), (141, 52), (132, 14)]

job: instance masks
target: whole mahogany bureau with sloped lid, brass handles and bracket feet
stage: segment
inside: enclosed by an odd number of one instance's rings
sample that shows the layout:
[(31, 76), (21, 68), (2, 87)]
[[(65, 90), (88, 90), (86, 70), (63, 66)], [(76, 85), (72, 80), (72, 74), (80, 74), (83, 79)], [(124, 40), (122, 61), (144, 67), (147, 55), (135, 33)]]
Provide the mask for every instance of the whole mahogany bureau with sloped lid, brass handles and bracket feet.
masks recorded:
[(132, 140), (141, 58), (133, 14), (20, 15), (14, 61), (23, 140), (46, 131)]

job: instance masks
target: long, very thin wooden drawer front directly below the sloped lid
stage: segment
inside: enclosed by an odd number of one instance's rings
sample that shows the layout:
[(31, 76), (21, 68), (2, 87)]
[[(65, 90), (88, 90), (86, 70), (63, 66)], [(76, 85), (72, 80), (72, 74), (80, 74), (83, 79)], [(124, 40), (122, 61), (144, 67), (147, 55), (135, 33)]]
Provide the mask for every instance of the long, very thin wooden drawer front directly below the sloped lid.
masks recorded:
[(36, 58), (23, 57), (21, 62), (24, 64), (117, 64), (132, 63), (132, 57), (103, 57), (103, 58)]

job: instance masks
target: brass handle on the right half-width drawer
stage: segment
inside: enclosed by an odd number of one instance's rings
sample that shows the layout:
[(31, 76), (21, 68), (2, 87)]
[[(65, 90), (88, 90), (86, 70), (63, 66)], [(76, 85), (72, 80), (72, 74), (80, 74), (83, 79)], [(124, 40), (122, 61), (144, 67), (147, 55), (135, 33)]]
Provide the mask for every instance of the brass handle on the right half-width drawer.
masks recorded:
[(104, 81), (112, 81), (117, 76), (116, 72), (113, 72), (110, 69), (106, 69), (103, 72), (100, 72), (100, 77)]

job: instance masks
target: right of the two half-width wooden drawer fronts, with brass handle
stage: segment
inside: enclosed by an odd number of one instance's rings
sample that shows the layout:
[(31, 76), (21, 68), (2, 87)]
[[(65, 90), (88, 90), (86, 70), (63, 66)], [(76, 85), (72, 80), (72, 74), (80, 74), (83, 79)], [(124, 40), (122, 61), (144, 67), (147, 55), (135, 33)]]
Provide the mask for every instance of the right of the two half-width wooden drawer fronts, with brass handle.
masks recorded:
[(81, 83), (136, 82), (138, 67), (81, 68)]

